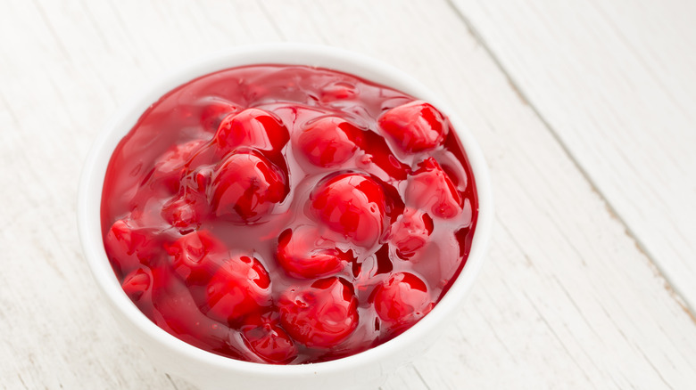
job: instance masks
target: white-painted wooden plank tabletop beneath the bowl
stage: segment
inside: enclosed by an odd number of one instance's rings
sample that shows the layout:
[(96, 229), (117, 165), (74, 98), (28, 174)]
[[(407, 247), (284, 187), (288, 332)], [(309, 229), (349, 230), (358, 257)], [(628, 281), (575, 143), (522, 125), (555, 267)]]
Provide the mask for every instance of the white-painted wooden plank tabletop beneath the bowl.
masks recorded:
[(76, 188), (144, 83), (231, 45), (336, 45), (443, 95), (493, 175), (488, 263), (387, 389), (696, 388), (696, 2), (0, 1), (0, 386), (190, 388), (112, 323)]

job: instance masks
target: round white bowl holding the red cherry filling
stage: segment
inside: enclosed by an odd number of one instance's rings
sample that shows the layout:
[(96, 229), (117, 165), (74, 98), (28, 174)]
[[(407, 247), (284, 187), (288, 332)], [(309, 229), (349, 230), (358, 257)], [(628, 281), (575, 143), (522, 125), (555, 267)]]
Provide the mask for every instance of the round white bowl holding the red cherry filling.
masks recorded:
[[(476, 182), (478, 219), (467, 264), (452, 288), (421, 321), (383, 345), (331, 362), (278, 366), (241, 362), (203, 351), (171, 336), (145, 317), (123, 292), (104, 252), (100, 221), (102, 186), (109, 158), (145, 110), (178, 85), (221, 69), (251, 64), (298, 64), (336, 69), (391, 86), (431, 102), (452, 121)], [(446, 77), (446, 76), (444, 76)], [(452, 323), (484, 261), (493, 222), (488, 170), (464, 123), (448, 105), (401, 70), (358, 53), (319, 45), (275, 44), (213, 53), (162, 77), (122, 107), (98, 135), (79, 183), (78, 224), (82, 247), (96, 283), (115, 318), (142, 345), (158, 367), (203, 389), (365, 389), (376, 388), (398, 366), (425, 352)]]

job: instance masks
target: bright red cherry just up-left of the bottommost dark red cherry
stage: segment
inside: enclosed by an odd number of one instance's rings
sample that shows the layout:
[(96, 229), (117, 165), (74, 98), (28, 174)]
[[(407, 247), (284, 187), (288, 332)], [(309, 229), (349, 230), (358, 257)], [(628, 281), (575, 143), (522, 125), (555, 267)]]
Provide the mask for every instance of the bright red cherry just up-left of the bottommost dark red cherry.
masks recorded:
[(232, 324), (270, 305), (269, 273), (253, 257), (232, 257), (212, 275), (205, 293), (203, 313)]

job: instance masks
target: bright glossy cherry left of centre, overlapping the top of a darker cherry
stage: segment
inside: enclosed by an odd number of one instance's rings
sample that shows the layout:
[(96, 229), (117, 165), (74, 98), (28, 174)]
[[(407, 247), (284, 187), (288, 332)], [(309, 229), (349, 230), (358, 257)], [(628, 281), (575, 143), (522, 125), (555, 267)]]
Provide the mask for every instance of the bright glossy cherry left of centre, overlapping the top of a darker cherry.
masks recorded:
[(240, 146), (258, 150), (280, 150), (290, 139), (287, 128), (275, 114), (246, 109), (220, 122), (214, 140), (223, 154)]

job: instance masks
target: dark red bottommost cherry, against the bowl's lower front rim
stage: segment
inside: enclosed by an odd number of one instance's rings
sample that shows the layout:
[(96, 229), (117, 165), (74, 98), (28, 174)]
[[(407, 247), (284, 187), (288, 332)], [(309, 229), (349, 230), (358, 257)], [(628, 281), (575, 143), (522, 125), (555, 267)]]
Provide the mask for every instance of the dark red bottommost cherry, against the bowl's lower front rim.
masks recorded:
[(261, 359), (274, 364), (292, 362), (297, 356), (297, 346), (280, 327), (278, 320), (270, 320), (269, 316), (261, 317), (255, 323), (241, 327), (244, 342), (253, 353)]

